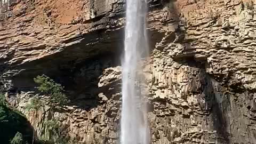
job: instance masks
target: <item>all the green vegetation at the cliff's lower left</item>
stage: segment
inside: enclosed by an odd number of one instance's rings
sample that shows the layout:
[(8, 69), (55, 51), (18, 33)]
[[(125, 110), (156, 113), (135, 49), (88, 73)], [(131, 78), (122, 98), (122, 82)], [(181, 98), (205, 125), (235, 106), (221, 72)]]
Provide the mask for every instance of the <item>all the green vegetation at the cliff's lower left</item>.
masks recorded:
[[(33, 116), (37, 118), (38, 111), (46, 104), (50, 105), (50, 110), (56, 107), (63, 107), (67, 105), (69, 100), (64, 93), (63, 87), (55, 83), (51, 78), (42, 75), (34, 78), (38, 84), (38, 90), (42, 94), (49, 97), (49, 103), (45, 103), (38, 94), (31, 98), (25, 106), (26, 111), (32, 112)], [(33, 125), (36, 125), (35, 123)], [(0, 94), (0, 139), (3, 144), (26, 144), (26, 143), (40, 143), (40, 144), (63, 144), (67, 141), (61, 136), (61, 124), (55, 119), (47, 120), (44, 125), (50, 133), (50, 138), (45, 140), (38, 138), (34, 141), (35, 133), (32, 126), (27, 121), (26, 117), (20, 111), (12, 108), (5, 100), (4, 94)], [(31, 137), (33, 135), (33, 138)]]

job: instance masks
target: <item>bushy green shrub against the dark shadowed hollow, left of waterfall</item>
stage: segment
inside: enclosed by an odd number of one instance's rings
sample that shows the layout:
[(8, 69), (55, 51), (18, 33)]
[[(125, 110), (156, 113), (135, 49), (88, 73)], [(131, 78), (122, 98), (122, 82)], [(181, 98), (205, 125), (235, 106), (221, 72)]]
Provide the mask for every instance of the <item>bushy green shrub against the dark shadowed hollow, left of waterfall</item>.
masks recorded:
[(50, 97), (50, 105), (62, 107), (69, 102), (63, 86), (55, 83), (51, 78), (42, 75), (34, 78), (34, 81), (39, 85), (38, 90)]

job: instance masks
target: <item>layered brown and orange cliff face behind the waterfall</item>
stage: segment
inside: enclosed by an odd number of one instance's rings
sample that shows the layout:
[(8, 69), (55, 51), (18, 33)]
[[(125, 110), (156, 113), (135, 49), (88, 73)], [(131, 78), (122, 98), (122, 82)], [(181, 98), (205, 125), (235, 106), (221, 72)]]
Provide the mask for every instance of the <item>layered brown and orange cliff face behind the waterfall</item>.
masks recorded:
[[(145, 61), (153, 143), (256, 143), (256, 5), (150, 1)], [(38, 135), (58, 118), (79, 143), (118, 143), (122, 0), (1, 1), (1, 80), (23, 110), (33, 78), (66, 87), (62, 112), (27, 114)]]

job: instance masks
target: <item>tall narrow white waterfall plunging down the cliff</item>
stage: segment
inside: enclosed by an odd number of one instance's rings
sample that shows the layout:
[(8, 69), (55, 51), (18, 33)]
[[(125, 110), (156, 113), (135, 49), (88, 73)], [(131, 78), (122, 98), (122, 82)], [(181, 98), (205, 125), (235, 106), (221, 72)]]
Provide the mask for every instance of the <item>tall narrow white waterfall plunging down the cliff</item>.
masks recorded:
[(126, 0), (125, 55), (122, 62), (122, 144), (149, 144), (147, 109), (141, 93), (141, 61), (148, 53), (147, 0)]

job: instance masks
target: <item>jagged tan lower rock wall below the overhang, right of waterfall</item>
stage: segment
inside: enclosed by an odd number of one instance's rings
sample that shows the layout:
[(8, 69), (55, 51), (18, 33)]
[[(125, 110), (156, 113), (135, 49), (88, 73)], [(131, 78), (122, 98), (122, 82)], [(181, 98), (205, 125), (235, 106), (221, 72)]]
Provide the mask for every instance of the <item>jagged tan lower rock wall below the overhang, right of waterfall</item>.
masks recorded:
[(255, 94), (221, 85), (204, 65), (194, 60), (174, 62), (168, 51), (154, 51), (153, 141), (254, 143)]

